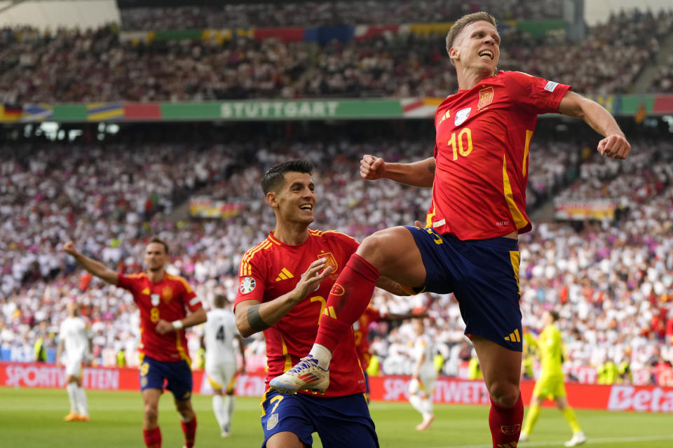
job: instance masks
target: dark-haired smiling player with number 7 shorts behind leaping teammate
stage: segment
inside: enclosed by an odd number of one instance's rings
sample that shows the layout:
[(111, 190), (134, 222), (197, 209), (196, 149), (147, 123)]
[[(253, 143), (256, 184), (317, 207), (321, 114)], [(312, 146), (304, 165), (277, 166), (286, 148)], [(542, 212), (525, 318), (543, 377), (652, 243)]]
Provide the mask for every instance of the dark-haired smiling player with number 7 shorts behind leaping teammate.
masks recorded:
[[(358, 242), (343, 233), (308, 229), (316, 204), (312, 171), (311, 162), (290, 160), (264, 174), (261, 188), (276, 214), (276, 228), (245, 253), (238, 270), (236, 325), (243, 337), (264, 332), (267, 384), (306, 356), (320, 317), (339, 312), (325, 306), (327, 294), (358, 248)], [(386, 277), (377, 284), (406, 295)], [(334, 360), (329, 388), (320, 382), (311, 387), (324, 391), (324, 396), (308, 391), (283, 395), (267, 387), (262, 398), (262, 447), (311, 447), (315, 431), (325, 448), (379, 446), (363, 394), (365, 378), (351, 324), (334, 344)]]

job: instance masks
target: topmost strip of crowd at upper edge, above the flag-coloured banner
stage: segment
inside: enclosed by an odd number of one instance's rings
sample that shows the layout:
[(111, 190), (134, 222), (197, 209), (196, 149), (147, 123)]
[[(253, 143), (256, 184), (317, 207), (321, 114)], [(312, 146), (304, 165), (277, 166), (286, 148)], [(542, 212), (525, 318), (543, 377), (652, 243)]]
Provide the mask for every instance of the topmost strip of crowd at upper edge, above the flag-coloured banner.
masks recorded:
[(451, 22), (487, 10), (501, 20), (562, 17), (562, 2), (553, 0), (414, 0), (306, 1), (177, 8), (123, 8), (121, 24), (131, 30), (183, 30), (224, 27), (318, 27)]

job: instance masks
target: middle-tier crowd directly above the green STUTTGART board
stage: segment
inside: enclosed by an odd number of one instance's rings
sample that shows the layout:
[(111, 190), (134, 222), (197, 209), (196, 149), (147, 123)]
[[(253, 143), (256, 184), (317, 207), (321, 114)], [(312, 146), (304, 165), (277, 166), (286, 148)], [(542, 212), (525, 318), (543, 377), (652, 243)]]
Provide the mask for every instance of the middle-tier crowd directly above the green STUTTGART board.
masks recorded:
[[(571, 83), (583, 94), (626, 92), (672, 27), (673, 11), (633, 10), (589, 29), (580, 43), (504, 29), (498, 68)], [(445, 97), (457, 89), (454, 73), (443, 36), (433, 34), (321, 47), (250, 37), (138, 43), (121, 40), (115, 27), (20, 39), (0, 33), (4, 104)]]

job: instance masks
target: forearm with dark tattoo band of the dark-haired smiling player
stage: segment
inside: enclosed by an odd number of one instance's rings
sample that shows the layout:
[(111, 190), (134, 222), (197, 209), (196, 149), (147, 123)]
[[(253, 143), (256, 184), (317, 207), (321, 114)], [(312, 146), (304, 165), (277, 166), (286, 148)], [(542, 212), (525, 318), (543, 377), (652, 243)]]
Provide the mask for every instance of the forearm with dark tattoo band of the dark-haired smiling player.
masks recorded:
[[(294, 305), (304, 300), (306, 295), (320, 286), (320, 282), (332, 273), (331, 266), (325, 267), (327, 260), (321, 258), (315, 260), (301, 274), (301, 279), (289, 293), (268, 302), (260, 303), (259, 300), (244, 300), (238, 302), (234, 314), (236, 314), (236, 328), (243, 337), (249, 337), (256, 332), (264, 331), (280, 321)], [(322, 270), (322, 272), (320, 272)], [(320, 274), (318, 274), (320, 272)]]

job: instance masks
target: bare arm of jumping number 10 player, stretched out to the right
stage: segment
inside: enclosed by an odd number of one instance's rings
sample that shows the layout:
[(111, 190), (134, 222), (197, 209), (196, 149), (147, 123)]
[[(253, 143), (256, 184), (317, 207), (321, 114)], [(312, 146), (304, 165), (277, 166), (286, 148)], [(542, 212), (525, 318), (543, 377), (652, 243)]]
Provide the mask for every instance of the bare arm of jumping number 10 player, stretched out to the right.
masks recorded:
[(599, 141), (597, 148), (601, 155), (625, 159), (631, 152), (631, 145), (626, 140), (622, 130), (619, 129), (615, 118), (597, 102), (569, 90), (561, 99), (559, 113), (569, 117), (581, 118), (594, 131), (603, 135), (605, 138)]

